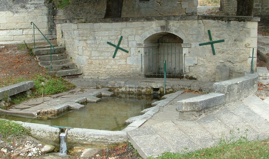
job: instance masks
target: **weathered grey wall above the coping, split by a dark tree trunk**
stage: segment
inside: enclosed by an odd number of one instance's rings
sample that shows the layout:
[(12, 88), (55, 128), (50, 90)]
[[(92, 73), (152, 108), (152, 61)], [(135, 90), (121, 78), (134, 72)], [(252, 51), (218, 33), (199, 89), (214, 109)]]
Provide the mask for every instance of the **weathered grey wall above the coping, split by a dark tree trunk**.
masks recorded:
[[(149, 17), (169, 15), (197, 14), (197, 0), (124, 0), (122, 18)], [(80, 0), (71, 1), (70, 6), (59, 10), (59, 19), (84, 19), (90, 22), (96, 18), (104, 18), (106, 13), (106, 0)]]

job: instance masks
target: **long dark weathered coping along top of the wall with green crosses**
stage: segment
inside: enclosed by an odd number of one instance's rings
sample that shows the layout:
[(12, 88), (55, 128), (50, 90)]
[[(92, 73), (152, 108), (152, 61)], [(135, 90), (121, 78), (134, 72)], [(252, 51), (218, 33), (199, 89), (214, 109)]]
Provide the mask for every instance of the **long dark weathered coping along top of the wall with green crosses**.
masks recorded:
[(260, 21), (259, 17), (251, 16), (220, 16), (220, 15), (174, 15), (164, 17), (129, 17), (129, 18), (106, 18), (93, 19), (59, 19), (56, 24), (64, 23), (113, 23), (113, 22), (147, 22), (155, 20), (234, 20), (234, 21)]

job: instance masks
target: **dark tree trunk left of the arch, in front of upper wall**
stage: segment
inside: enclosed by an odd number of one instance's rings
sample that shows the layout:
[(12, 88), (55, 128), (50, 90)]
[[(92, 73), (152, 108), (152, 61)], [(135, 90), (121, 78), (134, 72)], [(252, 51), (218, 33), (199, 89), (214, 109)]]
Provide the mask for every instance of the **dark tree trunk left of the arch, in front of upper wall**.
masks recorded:
[(123, 0), (107, 0), (104, 18), (121, 18)]

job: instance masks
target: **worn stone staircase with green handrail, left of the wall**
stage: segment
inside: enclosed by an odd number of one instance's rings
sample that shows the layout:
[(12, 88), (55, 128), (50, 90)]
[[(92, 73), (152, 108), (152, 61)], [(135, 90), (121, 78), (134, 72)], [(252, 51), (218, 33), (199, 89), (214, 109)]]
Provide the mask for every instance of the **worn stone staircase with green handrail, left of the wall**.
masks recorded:
[(72, 59), (68, 57), (68, 54), (65, 54), (65, 47), (54, 45), (54, 48), (55, 52), (52, 50), (51, 55), (50, 45), (36, 46), (36, 49), (33, 50), (39, 65), (45, 67), (50, 75), (54, 74), (57, 77), (61, 77), (83, 73), (83, 70), (77, 68)]

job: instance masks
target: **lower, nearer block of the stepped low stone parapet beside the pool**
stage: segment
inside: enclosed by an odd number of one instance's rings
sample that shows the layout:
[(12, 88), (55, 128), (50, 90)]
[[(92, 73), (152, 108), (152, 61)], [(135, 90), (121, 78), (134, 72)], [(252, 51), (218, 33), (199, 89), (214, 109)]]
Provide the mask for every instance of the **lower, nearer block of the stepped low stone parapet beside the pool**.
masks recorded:
[(215, 106), (224, 104), (225, 94), (209, 93), (177, 101), (177, 110), (181, 119), (198, 118), (207, 111), (217, 108)]

